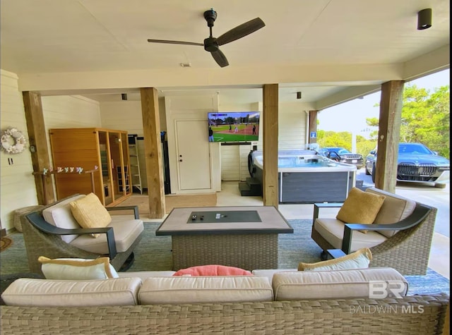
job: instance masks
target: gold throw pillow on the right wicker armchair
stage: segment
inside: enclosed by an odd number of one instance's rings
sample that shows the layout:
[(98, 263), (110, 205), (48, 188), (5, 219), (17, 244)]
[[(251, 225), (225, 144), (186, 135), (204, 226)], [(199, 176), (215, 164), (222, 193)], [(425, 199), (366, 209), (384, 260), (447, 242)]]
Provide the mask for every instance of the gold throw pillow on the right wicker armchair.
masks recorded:
[[(372, 224), (384, 202), (384, 195), (352, 188), (336, 219), (347, 224)], [(361, 231), (367, 233), (367, 231)]]

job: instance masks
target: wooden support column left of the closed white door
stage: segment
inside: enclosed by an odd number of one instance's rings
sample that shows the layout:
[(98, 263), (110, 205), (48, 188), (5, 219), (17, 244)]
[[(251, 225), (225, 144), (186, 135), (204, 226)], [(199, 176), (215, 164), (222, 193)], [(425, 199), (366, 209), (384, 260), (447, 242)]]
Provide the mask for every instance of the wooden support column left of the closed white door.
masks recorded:
[(151, 219), (165, 216), (165, 185), (160, 138), (158, 95), (154, 87), (141, 88), (144, 153), (148, 181), (149, 215)]

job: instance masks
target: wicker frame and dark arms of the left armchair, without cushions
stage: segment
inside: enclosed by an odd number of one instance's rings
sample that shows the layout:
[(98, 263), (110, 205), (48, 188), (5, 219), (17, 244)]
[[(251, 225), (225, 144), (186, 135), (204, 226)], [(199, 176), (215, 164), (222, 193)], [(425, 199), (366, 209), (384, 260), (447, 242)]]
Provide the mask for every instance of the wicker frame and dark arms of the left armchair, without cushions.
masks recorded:
[[(67, 198), (61, 199), (58, 202), (66, 199)], [(131, 262), (133, 262), (133, 250), (140, 242), (142, 234), (136, 238), (128, 250), (124, 252), (117, 252), (112, 227), (93, 229), (61, 229), (45, 221), (42, 217), (42, 211), (47, 207), (55, 205), (56, 203), (57, 202), (46, 205), (35, 212), (31, 212), (20, 217), (30, 272), (42, 274), (42, 264), (37, 261), (37, 259), (42, 255), (49, 258), (75, 257), (85, 259), (96, 259), (101, 256), (108, 256), (110, 258), (110, 264), (112, 264), (114, 269), (117, 271), (119, 271), (121, 267), (124, 270), (124, 264), (128, 264), (128, 266), (131, 265)], [(134, 219), (139, 219), (138, 206), (106, 207), (106, 209), (108, 211), (126, 210), (133, 213)], [(109, 247), (108, 255), (100, 255), (77, 248), (76, 246), (66, 243), (61, 239), (62, 235), (80, 235), (91, 233), (105, 233), (107, 235), (107, 243)]]

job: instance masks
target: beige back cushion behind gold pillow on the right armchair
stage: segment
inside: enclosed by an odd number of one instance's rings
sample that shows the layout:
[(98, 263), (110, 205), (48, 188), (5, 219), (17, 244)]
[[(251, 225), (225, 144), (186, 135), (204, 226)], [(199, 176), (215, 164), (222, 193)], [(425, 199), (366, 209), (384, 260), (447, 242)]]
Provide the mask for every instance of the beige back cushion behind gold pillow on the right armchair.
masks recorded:
[[(383, 195), (385, 200), (376, 215), (374, 224), (394, 224), (400, 220), (405, 219), (415, 210), (416, 202), (406, 197), (401, 197), (393, 193), (388, 193), (377, 188), (367, 188), (366, 192)], [(397, 231), (380, 231), (382, 235), (391, 237)]]

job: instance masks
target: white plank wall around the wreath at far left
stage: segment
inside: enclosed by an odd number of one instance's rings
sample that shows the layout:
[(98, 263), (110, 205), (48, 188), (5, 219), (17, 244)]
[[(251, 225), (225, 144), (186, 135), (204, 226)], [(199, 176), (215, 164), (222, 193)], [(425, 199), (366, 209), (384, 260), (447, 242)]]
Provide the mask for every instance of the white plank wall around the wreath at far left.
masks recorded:
[[(0, 117), (1, 130), (17, 128), (27, 138), (27, 149), (20, 154), (0, 152), (1, 187), (0, 208), (1, 228), (13, 228), (13, 211), (18, 208), (37, 205), (35, 177), (32, 176), (31, 154), (28, 150), (28, 131), (25, 121), (22, 93), (18, 90), (15, 73), (0, 70)], [(8, 164), (8, 158), (13, 164)]]

